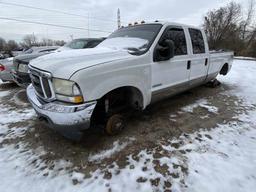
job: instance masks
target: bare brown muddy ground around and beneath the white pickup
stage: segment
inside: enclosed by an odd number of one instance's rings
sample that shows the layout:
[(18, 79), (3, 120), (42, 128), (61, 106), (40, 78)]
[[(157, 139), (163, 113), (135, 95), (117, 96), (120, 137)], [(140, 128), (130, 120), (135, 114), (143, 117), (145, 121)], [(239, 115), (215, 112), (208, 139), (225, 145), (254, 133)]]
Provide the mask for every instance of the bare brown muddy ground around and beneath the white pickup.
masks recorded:
[[(114, 161), (122, 168), (127, 165), (128, 155), (132, 155), (133, 159), (136, 160), (139, 158), (137, 154), (146, 149), (149, 153), (152, 152), (156, 159), (154, 161), (155, 169), (161, 174), (171, 174), (166, 173), (167, 168), (160, 166), (157, 161), (160, 157), (168, 156), (159, 144), (170, 144), (172, 139), (180, 135), (186, 136), (186, 134), (202, 128), (211, 129), (218, 124), (234, 120), (233, 117), (243, 112), (244, 107), (240, 105), (239, 99), (225, 94), (225, 91), (230, 89), (232, 87), (225, 84), (221, 84), (217, 88), (207, 86), (195, 88), (158, 102), (148, 107), (144, 112), (134, 114), (120, 135), (110, 137), (103, 134), (101, 130), (89, 129), (84, 133), (84, 137), (79, 143), (65, 139), (35, 117), (24, 122), (10, 124), (9, 127), (29, 126), (29, 129), (25, 132), (24, 137), (5, 139), (1, 145), (16, 144), (19, 147), (19, 143), (22, 142), (26, 143), (30, 150), (43, 147), (46, 154), (40, 158), (49, 166), (52, 161), (64, 159), (73, 164), (72, 169), (76, 169), (88, 177), (90, 172), (97, 168), (105, 171), (104, 168)], [(10, 92), (2, 97), (0, 101), (2, 105), (12, 110), (31, 108), (25, 90), (14, 84), (2, 84), (0, 91)], [(210, 112), (202, 106), (195, 107), (193, 113), (182, 110), (183, 107), (194, 104), (200, 99), (206, 99), (209, 105), (218, 109), (218, 113)], [(199, 141), (200, 137), (200, 135), (197, 137)], [(111, 148), (115, 141), (128, 142), (129, 145), (109, 158), (92, 162), (88, 160), (90, 155)], [(171, 143), (171, 145), (178, 148), (180, 143)], [(186, 151), (180, 151), (180, 153), (186, 153)], [(181, 168), (185, 173), (186, 167)], [(111, 178), (111, 174), (106, 171), (105, 177), (106, 179)], [(172, 177), (179, 177), (179, 175), (172, 175)], [(138, 182), (144, 182), (143, 178), (139, 179)], [(152, 185), (157, 185), (157, 182), (157, 180), (151, 181)], [(170, 183), (166, 182), (166, 188), (169, 185)]]

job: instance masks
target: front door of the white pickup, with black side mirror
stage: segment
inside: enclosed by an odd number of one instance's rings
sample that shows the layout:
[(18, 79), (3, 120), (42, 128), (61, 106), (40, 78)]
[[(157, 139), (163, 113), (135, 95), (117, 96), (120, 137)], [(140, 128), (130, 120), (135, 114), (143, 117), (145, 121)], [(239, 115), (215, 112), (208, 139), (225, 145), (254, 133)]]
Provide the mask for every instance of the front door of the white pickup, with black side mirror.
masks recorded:
[(181, 27), (168, 27), (160, 38), (159, 44), (169, 39), (174, 43), (174, 57), (169, 60), (155, 61), (152, 64), (153, 101), (180, 92), (189, 80), (188, 39)]

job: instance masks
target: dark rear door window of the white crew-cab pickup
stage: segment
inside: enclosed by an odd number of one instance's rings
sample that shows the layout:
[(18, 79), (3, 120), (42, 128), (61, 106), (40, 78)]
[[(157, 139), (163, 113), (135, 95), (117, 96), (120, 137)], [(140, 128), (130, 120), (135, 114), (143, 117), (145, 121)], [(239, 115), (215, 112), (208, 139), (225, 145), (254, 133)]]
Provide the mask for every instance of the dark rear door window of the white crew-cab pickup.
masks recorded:
[(189, 34), (193, 46), (193, 54), (205, 53), (205, 45), (202, 32), (198, 29), (189, 29)]

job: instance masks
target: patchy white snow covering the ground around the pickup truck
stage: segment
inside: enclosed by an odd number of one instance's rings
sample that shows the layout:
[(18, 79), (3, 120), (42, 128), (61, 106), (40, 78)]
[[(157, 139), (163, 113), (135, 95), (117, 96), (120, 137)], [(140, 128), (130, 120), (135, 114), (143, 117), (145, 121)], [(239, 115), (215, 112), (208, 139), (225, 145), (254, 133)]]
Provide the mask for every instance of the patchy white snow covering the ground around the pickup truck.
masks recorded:
[[(0, 191), (1, 192), (40, 192), (40, 191), (225, 191), (248, 192), (256, 188), (256, 62), (236, 60), (231, 73), (220, 78), (225, 85), (234, 89), (226, 91), (227, 95), (236, 95), (243, 99), (251, 109), (240, 114), (228, 124), (218, 125), (211, 131), (201, 130), (190, 135), (182, 135), (162, 144), (161, 150), (166, 157), (157, 159), (159, 166), (167, 165), (169, 174), (160, 174), (155, 169), (153, 151), (144, 150), (138, 154), (139, 160), (132, 155), (127, 157), (128, 164), (120, 169), (117, 164), (106, 170), (112, 175), (106, 180), (102, 170), (91, 173), (85, 178), (83, 173), (67, 171), (72, 164), (64, 160), (52, 162), (54, 169), (49, 169), (40, 156), (45, 151), (39, 148), (31, 151), (25, 143), (18, 145), (3, 144), (8, 136), (11, 123), (22, 122), (34, 116), (32, 110), (9, 111), (0, 106)], [(192, 113), (197, 107), (218, 113), (206, 99), (181, 109)], [(170, 116), (175, 119), (174, 115)], [(203, 128), (203, 127), (202, 127)], [(21, 133), (24, 131), (21, 128)], [(20, 137), (18, 131), (11, 137)], [(182, 143), (174, 147), (174, 143)], [(124, 150), (127, 143), (114, 143), (113, 148), (91, 155), (91, 160), (101, 160), (113, 153)], [(186, 151), (186, 153), (181, 153)], [(146, 167), (146, 168), (145, 168)], [(105, 171), (106, 171), (105, 170)], [(184, 171), (187, 170), (187, 171)], [(173, 176), (174, 175), (174, 176)], [(179, 175), (179, 177), (175, 177)], [(78, 184), (74, 185), (73, 181)], [(159, 185), (152, 185), (156, 181)], [(166, 182), (171, 183), (166, 188)]]

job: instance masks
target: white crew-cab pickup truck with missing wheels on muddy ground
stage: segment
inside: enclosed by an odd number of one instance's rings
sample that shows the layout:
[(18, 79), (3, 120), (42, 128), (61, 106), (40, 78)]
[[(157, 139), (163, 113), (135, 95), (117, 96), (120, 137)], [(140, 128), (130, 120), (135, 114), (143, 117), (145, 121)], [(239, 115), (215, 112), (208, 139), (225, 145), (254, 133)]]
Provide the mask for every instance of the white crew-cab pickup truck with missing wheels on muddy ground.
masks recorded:
[(116, 134), (126, 112), (226, 75), (232, 60), (232, 52), (210, 52), (199, 28), (143, 23), (115, 31), (96, 48), (31, 61), (27, 95), (40, 119), (66, 137), (96, 125)]

